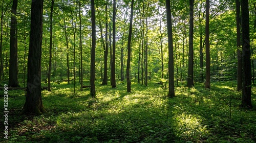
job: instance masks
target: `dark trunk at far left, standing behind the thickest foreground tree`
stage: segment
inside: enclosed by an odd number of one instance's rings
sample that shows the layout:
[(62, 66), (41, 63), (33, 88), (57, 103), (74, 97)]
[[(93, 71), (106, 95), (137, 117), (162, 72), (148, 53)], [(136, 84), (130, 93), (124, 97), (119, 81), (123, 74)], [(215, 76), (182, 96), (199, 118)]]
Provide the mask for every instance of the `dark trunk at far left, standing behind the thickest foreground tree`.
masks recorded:
[(17, 40), (17, 0), (13, 0), (11, 30), (10, 30), (10, 58), (9, 58), (9, 83), (10, 87), (19, 87), (18, 85), (18, 40)]

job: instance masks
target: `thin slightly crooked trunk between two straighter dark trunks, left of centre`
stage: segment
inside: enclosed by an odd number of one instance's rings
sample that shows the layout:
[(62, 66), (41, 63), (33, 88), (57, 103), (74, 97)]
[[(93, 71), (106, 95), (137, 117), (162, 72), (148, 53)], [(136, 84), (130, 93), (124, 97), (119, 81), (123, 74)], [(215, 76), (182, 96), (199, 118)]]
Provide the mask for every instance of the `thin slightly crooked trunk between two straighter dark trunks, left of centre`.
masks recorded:
[(103, 81), (101, 85), (107, 85), (108, 84), (108, 53), (109, 53), (109, 47), (108, 47), (108, 0), (106, 0), (105, 5), (105, 49), (104, 49), (104, 75), (103, 75)]

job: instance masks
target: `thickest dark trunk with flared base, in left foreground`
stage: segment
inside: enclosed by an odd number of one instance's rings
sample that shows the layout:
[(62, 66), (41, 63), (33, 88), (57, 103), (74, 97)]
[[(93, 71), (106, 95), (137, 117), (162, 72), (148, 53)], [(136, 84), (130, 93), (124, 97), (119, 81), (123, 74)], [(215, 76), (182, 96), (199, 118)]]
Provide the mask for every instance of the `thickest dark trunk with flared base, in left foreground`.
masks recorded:
[(28, 55), (27, 96), (22, 113), (46, 112), (41, 99), (41, 46), (43, 0), (32, 1)]

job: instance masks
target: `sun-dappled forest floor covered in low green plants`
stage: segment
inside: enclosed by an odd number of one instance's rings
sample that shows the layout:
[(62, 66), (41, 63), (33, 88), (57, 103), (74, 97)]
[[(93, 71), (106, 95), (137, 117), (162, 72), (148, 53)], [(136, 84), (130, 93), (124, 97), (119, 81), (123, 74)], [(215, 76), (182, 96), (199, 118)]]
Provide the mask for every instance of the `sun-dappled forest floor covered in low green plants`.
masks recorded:
[(47, 112), (39, 116), (19, 115), (24, 90), (9, 90), (8, 140), (1, 115), (0, 142), (256, 142), (255, 86), (253, 108), (241, 109), (236, 82), (212, 82), (211, 90), (179, 86), (175, 98), (153, 82), (133, 83), (131, 93), (126, 83), (112, 89), (97, 82), (96, 99), (90, 88), (77, 84), (74, 94), (73, 84), (52, 83), (51, 92), (42, 90)]

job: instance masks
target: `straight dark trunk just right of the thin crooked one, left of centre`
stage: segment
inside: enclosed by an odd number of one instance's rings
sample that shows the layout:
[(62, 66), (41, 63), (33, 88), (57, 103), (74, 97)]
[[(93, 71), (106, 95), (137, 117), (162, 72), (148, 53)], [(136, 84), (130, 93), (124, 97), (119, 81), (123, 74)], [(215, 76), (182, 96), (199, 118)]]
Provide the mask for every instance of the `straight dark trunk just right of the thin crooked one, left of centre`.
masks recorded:
[(113, 49), (112, 49), (112, 70), (111, 70), (111, 81), (112, 88), (116, 88), (116, 75), (115, 75), (115, 61), (116, 61), (116, 0), (114, 0), (113, 7)]

